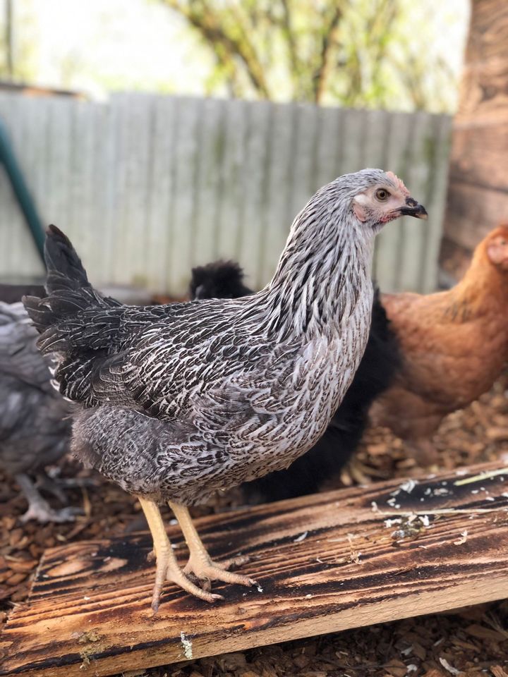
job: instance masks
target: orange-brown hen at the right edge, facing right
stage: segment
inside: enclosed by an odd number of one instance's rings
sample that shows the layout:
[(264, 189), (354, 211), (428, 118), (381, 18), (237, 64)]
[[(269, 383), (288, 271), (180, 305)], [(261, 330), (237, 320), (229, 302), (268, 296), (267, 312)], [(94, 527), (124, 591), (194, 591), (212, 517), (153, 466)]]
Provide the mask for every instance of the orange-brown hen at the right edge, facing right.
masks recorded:
[(449, 291), (382, 295), (403, 355), (401, 372), (373, 405), (375, 425), (404, 439), (422, 465), (442, 418), (488, 391), (508, 358), (508, 224), (476, 247)]

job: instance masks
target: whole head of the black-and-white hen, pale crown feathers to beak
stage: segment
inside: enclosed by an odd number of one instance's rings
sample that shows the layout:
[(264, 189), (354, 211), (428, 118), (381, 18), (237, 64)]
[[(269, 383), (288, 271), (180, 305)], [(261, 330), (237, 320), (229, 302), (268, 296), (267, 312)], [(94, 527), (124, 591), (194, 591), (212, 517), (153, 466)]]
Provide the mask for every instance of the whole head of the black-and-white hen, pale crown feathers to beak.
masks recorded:
[(377, 231), (399, 216), (427, 218), (425, 207), (409, 195), (409, 190), (392, 171), (364, 169), (357, 174), (362, 180), (360, 190), (353, 195), (351, 208), (362, 224)]

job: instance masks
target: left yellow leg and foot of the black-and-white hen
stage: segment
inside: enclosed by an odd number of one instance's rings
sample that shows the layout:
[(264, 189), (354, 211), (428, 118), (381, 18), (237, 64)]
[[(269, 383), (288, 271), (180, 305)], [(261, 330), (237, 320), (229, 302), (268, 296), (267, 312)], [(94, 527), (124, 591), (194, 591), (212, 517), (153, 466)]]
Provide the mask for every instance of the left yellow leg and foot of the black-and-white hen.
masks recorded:
[(138, 496), (138, 501), (143, 508), (148, 526), (150, 527), (154, 542), (155, 558), (157, 559), (155, 585), (152, 594), (152, 609), (154, 611), (159, 609), (162, 586), (166, 580), (173, 581), (176, 585), (183, 587), (183, 590), (190, 592), (195, 595), (195, 597), (205, 599), (206, 602), (214, 602), (216, 599), (223, 599), (220, 594), (205, 592), (205, 590), (201, 590), (200, 587), (188, 580), (176, 561), (158, 506), (153, 501), (143, 499), (141, 496)]

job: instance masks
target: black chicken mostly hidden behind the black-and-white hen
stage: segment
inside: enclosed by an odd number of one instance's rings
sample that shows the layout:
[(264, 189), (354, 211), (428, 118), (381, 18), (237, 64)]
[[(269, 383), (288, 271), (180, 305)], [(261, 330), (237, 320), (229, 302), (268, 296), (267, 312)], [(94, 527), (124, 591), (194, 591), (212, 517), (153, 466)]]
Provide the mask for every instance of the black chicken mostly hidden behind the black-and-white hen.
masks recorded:
[[(243, 284), (243, 277), (236, 262), (217, 261), (195, 267), (189, 286), (191, 298), (236, 298), (253, 293)], [(397, 338), (379, 296), (376, 288), (365, 353), (325, 434), (286, 470), (242, 484), (243, 495), (250, 504), (313, 494), (322, 482), (337, 475), (356, 451), (370, 405), (392, 385), (401, 366)]]

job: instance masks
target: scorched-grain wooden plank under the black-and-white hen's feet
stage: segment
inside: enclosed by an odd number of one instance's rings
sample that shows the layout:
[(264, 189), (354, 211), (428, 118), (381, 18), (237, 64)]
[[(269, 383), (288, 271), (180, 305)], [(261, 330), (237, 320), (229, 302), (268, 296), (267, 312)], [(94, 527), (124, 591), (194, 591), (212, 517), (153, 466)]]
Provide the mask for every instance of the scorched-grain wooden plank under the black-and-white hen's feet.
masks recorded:
[[(108, 675), (506, 597), (505, 471), (476, 466), (196, 520), (212, 556), (250, 555), (242, 571), (259, 583), (215, 586), (226, 596), (215, 606), (167, 585), (152, 614), (147, 534), (51, 549), (29, 603), (8, 619), (1, 674)], [(169, 535), (183, 561), (179, 531)]]

